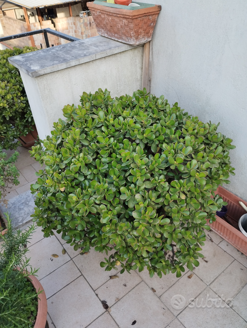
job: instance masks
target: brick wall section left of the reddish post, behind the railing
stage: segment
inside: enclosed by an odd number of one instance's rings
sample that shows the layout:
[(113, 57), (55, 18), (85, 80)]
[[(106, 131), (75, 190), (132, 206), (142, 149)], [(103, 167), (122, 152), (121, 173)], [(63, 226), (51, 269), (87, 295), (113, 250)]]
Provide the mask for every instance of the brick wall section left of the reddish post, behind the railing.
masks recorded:
[[(28, 31), (27, 23), (19, 19), (11, 18), (9, 16), (2, 16), (3, 20), (3, 32), (4, 36), (25, 33)], [(25, 36), (23, 38), (9, 40), (8, 44), (12, 47), (23, 48), (25, 46), (31, 46), (30, 37)]]

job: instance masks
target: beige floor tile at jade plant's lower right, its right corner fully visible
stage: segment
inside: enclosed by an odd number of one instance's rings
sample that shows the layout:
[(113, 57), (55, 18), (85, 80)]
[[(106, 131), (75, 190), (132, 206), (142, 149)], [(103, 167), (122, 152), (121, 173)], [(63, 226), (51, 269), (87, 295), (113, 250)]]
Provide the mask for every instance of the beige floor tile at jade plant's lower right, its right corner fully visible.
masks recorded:
[(205, 256), (207, 262), (200, 258), (200, 265), (195, 268), (194, 272), (207, 285), (218, 277), (219, 274), (234, 260), (234, 258), (224, 252), (222, 248), (208, 240), (205, 241), (205, 246), (202, 246), (202, 251), (200, 251), (200, 253)]

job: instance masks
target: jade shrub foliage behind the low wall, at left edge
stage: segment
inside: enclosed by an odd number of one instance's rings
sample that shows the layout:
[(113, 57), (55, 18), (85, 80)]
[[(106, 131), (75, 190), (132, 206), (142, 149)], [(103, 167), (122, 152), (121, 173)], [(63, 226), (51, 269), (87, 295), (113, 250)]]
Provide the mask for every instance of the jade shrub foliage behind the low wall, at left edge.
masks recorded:
[(33, 131), (33, 116), (19, 70), (9, 57), (37, 50), (33, 47), (0, 50), (0, 146), (16, 149), (14, 139)]

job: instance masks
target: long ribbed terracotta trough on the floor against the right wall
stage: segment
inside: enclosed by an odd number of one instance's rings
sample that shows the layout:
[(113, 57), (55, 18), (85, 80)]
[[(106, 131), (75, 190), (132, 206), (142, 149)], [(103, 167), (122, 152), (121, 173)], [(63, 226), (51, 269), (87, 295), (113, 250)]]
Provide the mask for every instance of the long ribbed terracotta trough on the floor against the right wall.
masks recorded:
[(228, 203), (226, 219), (229, 223), (216, 215), (216, 221), (208, 223), (208, 225), (229, 244), (233, 245), (247, 256), (247, 237), (244, 236), (238, 228), (239, 218), (246, 213), (238, 202), (241, 201), (246, 206), (247, 202), (222, 187), (219, 187), (215, 194), (219, 194), (223, 200)]

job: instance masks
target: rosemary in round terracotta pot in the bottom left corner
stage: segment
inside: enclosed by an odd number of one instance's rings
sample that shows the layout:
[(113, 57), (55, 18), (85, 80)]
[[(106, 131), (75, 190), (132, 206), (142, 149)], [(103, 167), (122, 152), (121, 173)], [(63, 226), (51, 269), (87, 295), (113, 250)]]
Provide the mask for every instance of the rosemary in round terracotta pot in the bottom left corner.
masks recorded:
[(14, 233), (8, 213), (8, 231), (2, 236), (0, 252), (0, 322), (1, 327), (45, 328), (47, 300), (45, 292), (34, 276), (38, 270), (29, 269), (28, 238), (34, 225)]

